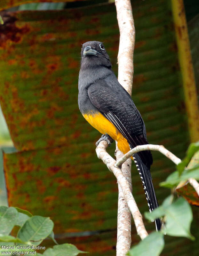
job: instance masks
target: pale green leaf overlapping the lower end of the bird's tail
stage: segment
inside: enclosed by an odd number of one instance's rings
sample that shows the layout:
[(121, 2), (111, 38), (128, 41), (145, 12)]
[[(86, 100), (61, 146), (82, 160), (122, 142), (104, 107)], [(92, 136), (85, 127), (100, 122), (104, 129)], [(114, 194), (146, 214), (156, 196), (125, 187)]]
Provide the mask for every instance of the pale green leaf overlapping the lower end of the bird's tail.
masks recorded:
[(170, 236), (184, 236), (194, 240), (194, 236), (190, 233), (190, 225), (193, 219), (190, 205), (187, 201), (180, 197), (172, 204), (168, 204), (171, 196), (164, 200), (163, 204), (152, 212), (145, 212), (145, 217), (148, 220), (154, 220), (165, 216), (165, 229)]

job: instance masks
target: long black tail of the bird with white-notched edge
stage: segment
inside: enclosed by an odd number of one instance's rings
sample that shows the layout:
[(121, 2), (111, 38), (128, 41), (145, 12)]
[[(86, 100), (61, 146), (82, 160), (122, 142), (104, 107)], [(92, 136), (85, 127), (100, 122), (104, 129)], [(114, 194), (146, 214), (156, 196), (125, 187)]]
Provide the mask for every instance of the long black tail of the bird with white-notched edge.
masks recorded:
[[(142, 185), (144, 187), (144, 192), (147, 198), (148, 208), (149, 211), (153, 211), (155, 208), (158, 207), (157, 198), (155, 196), (155, 190), (153, 187), (152, 177), (149, 168), (142, 162), (141, 158), (138, 154), (134, 154), (133, 160), (136, 164), (136, 167), (139, 172), (139, 176), (142, 181)], [(161, 221), (160, 219), (155, 220), (156, 230), (160, 230), (161, 228)]]

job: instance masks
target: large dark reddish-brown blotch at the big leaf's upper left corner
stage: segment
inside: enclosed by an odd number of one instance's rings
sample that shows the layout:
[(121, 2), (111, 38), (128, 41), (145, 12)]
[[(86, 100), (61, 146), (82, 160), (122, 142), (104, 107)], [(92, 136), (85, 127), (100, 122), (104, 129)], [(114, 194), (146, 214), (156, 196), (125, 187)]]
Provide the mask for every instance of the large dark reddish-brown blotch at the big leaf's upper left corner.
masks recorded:
[(8, 12), (4, 12), (2, 16), (4, 24), (0, 26), (0, 47), (6, 48), (7, 42), (9, 41), (20, 43), (22, 36), (28, 34), (30, 31), (30, 27), (27, 24), (21, 28), (17, 27), (15, 24), (17, 18)]

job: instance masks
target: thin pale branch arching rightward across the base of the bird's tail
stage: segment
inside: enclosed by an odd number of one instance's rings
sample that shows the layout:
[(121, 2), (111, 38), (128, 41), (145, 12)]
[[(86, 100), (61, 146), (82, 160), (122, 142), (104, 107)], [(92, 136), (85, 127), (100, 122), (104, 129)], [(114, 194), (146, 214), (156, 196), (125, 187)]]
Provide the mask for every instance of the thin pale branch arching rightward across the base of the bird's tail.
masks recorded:
[(181, 163), (181, 160), (177, 156), (173, 155), (169, 150), (164, 148), (164, 146), (147, 144), (147, 145), (139, 145), (135, 148), (132, 148), (129, 152), (127, 152), (122, 158), (120, 158), (116, 162), (115, 166), (120, 167), (133, 154), (138, 153), (139, 151), (144, 151), (144, 150), (159, 151), (164, 156), (168, 157), (173, 163), (175, 164)]

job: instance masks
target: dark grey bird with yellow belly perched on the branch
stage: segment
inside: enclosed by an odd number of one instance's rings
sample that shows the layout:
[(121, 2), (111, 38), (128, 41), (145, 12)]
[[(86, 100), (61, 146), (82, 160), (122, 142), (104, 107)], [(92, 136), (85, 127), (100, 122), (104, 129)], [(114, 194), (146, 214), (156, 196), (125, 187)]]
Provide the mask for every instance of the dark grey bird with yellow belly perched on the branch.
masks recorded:
[[(78, 105), (84, 118), (102, 135), (101, 140), (110, 144), (118, 142), (125, 154), (137, 145), (148, 144), (144, 121), (129, 93), (118, 82), (104, 45), (98, 41), (82, 46), (81, 68), (78, 82)], [(150, 151), (133, 155), (133, 160), (146, 194), (149, 211), (158, 207), (152, 183)], [(155, 220), (156, 229), (161, 228), (160, 219)]]

